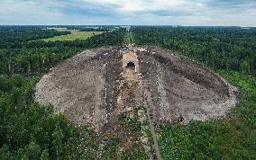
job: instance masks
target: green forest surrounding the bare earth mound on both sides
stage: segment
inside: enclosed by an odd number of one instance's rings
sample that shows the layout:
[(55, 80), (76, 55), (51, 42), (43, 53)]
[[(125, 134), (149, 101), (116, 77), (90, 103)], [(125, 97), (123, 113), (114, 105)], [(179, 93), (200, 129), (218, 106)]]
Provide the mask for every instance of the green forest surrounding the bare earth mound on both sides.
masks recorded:
[[(58, 26), (0, 27), (0, 159), (97, 159), (100, 138), (90, 126), (75, 127), (52, 106), (34, 102), (34, 87), (52, 67), (82, 50), (127, 41), (196, 60), (241, 90), (240, 106), (226, 118), (162, 124), (163, 159), (256, 159), (255, 29), (133, 26), (131, 31), (99, 28), (105, 32), (87, 40), (43, 41), (70, 34), (50, 27)], [(113, 159), (117, 143), (109, 139), (101, 159)], [(137, 147), (125, 154), (123, 159), (145, 159)]]

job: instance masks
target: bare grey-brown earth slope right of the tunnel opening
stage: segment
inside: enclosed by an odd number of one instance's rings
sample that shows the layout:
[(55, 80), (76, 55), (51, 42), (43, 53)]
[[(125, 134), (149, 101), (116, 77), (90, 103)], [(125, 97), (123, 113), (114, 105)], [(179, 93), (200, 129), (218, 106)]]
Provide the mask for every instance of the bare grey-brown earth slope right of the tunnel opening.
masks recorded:
[(237, 89), (221, 76), (165, 50), (138, 52), (155, 123), (211, 120), (234, 107)]

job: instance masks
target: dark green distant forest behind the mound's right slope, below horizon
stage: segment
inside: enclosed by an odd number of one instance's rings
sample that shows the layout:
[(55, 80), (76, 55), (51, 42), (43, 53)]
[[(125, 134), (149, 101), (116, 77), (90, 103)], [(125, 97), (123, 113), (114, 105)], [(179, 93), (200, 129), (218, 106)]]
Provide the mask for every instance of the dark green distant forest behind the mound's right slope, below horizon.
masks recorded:
[(137, 45), (178, 51), (213, 69), (256, 70), (256, 30), (238, 27), (132, 27)]

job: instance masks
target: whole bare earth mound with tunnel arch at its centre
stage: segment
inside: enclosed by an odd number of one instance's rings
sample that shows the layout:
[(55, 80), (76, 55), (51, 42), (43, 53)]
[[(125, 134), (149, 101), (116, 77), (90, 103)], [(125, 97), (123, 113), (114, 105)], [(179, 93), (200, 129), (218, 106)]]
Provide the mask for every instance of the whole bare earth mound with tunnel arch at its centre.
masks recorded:
[(53, 68), (36, 90), (38, 102), (98, 130), (113, 129), (123, 111), (140, 107), (153, 125), (186, 124), (224, 116), (238, 102), (222, 77), (154, 47), (87, 50)]

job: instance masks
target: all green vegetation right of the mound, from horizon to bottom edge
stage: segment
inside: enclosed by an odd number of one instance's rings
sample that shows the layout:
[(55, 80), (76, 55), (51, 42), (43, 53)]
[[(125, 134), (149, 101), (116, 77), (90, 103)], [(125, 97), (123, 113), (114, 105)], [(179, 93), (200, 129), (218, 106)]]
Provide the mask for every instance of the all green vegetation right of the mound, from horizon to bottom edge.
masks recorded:
[(210, 67), (242, 91), (227, 118), (160, 126), (164, 159), (256, 159), (256, 31), (240, 28), (133, 27), (138, 45), (154, 45)]

